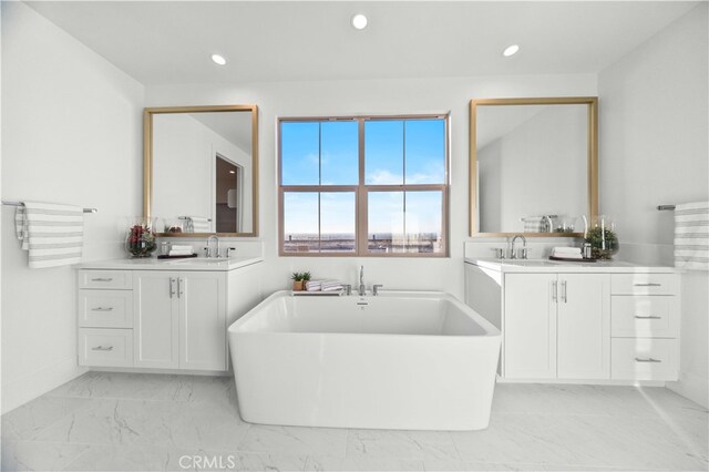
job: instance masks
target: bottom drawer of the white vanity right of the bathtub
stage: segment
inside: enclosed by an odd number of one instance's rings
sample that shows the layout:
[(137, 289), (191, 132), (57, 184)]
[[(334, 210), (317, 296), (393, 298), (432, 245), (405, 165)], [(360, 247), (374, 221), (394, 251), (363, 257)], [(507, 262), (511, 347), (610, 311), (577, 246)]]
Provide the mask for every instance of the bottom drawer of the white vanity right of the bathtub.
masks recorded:
[(614, 380), (677, 380), (676, 339), (614, 338), (610, 378)]

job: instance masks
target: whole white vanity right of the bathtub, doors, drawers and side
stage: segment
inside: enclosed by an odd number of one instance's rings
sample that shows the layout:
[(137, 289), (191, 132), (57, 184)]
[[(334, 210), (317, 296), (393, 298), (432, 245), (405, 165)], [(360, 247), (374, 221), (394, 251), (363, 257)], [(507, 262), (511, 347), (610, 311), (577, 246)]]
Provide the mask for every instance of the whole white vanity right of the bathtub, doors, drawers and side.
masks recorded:
[(502, 331), (510, 380), (676, 380), (679, 275), (629, 263), (466, 260), (465, 302)]

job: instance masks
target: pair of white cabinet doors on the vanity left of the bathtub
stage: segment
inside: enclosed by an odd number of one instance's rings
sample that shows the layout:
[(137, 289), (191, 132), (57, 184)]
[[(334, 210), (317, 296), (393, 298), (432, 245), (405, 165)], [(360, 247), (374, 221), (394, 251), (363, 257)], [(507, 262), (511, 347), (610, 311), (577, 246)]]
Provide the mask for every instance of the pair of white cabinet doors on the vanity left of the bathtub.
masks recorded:
[(226, 370), (226, 274), (133, 274), (135, 367)]

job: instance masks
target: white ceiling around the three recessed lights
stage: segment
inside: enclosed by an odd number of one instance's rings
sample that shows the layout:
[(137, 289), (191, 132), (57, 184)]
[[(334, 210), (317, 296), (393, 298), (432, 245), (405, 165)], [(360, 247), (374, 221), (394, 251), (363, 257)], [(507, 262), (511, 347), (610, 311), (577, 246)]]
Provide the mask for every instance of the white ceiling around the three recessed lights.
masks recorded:
[[(29, 1), (145, 85), (595, 73), (699, 2)], [(369, 25), (350, 19), (364, 13)], [(518, 43), (521, 51), (503, 58)], [(212, 53), (228, 63), (214, 64)]]

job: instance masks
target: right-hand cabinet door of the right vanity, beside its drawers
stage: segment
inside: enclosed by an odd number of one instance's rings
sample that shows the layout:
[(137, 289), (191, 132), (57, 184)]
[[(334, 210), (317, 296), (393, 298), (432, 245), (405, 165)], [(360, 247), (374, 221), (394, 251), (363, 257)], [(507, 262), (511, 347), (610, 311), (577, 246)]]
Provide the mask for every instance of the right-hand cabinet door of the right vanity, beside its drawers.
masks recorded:
[(609, 276), (559, 274), (558, 283), (558, 378), (609, 379)]

